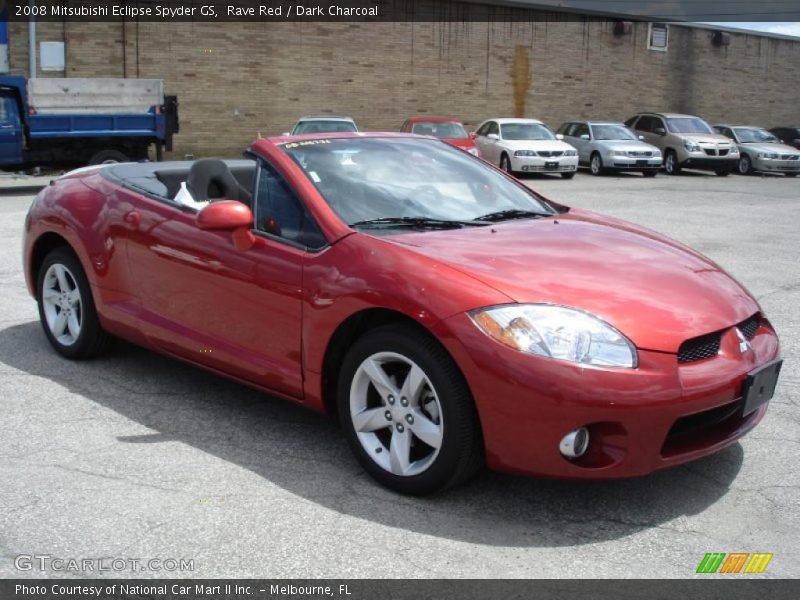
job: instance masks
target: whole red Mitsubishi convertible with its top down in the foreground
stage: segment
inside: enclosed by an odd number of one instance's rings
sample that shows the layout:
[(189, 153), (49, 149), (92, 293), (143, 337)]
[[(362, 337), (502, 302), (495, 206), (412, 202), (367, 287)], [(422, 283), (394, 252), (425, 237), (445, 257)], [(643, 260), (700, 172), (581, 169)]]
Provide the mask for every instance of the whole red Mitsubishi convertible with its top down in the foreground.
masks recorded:
[(248, 157), (83, 169), (36, 197), (25, 274), (58, 352), (118, 336), (336, 414), (364, 469), (410, 494), (484, 462), (642, 475), (764, 416), (776, 333), (685, 246), (430, 138), (278, 137)]

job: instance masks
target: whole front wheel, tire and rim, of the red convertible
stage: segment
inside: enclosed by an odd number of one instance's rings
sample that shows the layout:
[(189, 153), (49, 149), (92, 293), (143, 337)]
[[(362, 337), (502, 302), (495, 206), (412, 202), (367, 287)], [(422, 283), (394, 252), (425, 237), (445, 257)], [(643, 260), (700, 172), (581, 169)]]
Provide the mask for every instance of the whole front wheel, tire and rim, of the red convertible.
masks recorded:
[(359, 338), (342, 365), (338, 408), (361, 466), (397, 492), (442, 490), (471, 477), (482, 463), (466, 382), (424, 333), (389, 325)]

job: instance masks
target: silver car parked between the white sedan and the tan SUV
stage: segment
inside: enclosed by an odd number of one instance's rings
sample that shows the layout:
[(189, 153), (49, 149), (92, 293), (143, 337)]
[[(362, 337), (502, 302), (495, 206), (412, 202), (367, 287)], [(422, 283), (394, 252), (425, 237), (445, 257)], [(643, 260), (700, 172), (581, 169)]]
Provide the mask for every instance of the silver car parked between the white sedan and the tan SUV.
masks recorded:
[(661, 168), (661, 151), (647, 144), (622, 123), (611, 121), (569, 121), (558, 134), (578, 150), (581, 165), (592, 175), (607, 171), (641, 171), (655, 177)]

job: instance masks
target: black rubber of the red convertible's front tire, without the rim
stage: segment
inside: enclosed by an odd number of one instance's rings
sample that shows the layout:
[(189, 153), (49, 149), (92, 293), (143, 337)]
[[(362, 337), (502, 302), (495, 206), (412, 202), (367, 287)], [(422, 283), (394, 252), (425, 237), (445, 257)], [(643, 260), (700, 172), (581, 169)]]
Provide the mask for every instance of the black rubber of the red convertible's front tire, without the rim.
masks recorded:
[[(379, 465), (377, 459), (373, 460), (359, 440), (351, 416), (351, 387), (354, 387), (360, 366), (367, 358), (386, 352), (402, 355), (419, 366), (436, 390), (441, 406), (442, 441), (438, 454), (416, 475), (395, 475)], [(345, 356), (337, 396), (342, 429), (358, 462), (376, 481), (396, 492), (415, 496), (438, 492), (466, 481), (483, 465), (478, 415), (466, 381), (447, 351), (421, 331), (403, 325), (386, 325), (360, 337)], [(389, 408), (387, 404), (378, 404), (378, 408), (384, 407)], [(398, 418), (392, 422), (402, 421)], [(392, 426), (387, 433), (394, 435)], [(375, 455), (383, 450), (390, 452), (388, 446), (376, 447)]]

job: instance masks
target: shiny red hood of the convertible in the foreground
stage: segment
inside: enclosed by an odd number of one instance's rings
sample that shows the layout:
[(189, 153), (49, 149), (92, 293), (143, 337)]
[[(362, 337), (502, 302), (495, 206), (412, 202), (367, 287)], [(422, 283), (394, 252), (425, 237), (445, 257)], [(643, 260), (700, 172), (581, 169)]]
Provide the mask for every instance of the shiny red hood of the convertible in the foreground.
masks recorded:
[(592, 313), (641, 349), (675, 353), (684, 340), (759, 310), (747, 290), (708, 258), (587, 211), (382, 239), (442, 261), (515, 302)]

